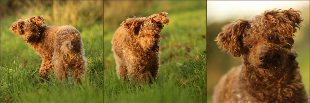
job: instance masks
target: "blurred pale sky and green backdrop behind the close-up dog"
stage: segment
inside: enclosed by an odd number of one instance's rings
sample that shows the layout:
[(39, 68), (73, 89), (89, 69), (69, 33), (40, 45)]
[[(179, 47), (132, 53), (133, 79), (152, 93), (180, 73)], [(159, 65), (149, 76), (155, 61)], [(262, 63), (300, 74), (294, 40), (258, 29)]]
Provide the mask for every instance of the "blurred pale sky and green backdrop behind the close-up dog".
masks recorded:
[[(257, 1), (257, 2), (261, 2), (264, 3), (262, 1)], [(266, 3), (271, 3), (269, 1), (265, 1)], [(274, 1), (277, 2), (277, 1)], [(234, 3), (240, 3), (240, 5), (247, 5), (244, 8), (247, 9), (243, 9), (241, 6), (234, 8), (237, 6), (237, 4)], [(307, 2), (306, 2), (307, 3)], [(222, 5), (223, 4), (223, 5)], [(251, 5), (250, 5), (251, 4)], [(231, 2), (227, 2), (226, 5), (224, 6), (224, 2), (218, 1), (217, 2), (213, 2), (213, 1), (208, 1), (207, 2), (207, 102), (212, 102), (212, 95), (213, 95), (213, 91), (214, 91), (214, 86), (219, 82), (219, 79), (222, 77), (222, 75), (224, 75), (225, 73), (227, 73), (228, 70), (230, 70), (231, 67), (236, 67), (241, 65), (241, 59), (242, 56), (239, 58), (234, 58), (231, 54), (229, 54), (229, 52), (226, 50), (225, 52), (222, 52), (222, 49), (218, 48), (218, 45), (216, 44), (217, 42), (215, 42), (215, 37), (217, 37), (217, 35), (221, 32), (221, 28), (224, 25), (230, 24), (233, 21), (235, 21), (237, 18), (244, 18), (244, 19), (248, 19), (251, 18), (254, 15), (261, 15), (260, 13), (268, 10), (268, 9), (273, 9), (273, 8), (277, 8), (277, 9), (283, 9), (285, 10), (286, 8), (293, 8), (293, 9), (298, 9), (302, 12), (302, 18), (304, 19), (303, 21), (303, 25), (304, 27), (301, 27), (300, 30), (297, 29), (297, 33), (295, 33), (295, 37), (294, 37), (294, 45), (292, 49), (295, 49), (298, 57), (297, 57), (297, 61), (299, 62), (299, 67), (300, 67), (300, 72), (302, 74), (302, 81), (305, 84), (305, 88), (307, 90), (307, 92), (309, 93), (309, 52), (310, 52), (310, 42), (309, 42), (309, 6), (299, 6), (299, 5), (293, 5), (292, 3), (288, 3), (288, 4), (275, 4), (275, 5), (266, 5), (263, 7), (256, 7), (253, 6), (253, 4), (257, 4), (255, 2), (251, 2), (251, 1), (240, 1), (240, 2), (235, 2), (235, 1), (231, 1)], [(298, 4), (298, 3), (297, 3)], [(284, 7), (280, 8), (279, 5), (282, 5)], [(307, 5), (307, 4), (306, 4)], [(309, 3), (308, 3), (309, 5)], [(221, 7), (221, 9), (219, 9), (218, 7)], [(223, 8), (222, 8), (223, 7)], [(226, 7), (226, 8), (225, 8)], [(300, 7), (300, 8), (298, 8)], [(266, 9), (268, 8), (268, 9)], [(232, 9), (229, 11), (229, 9)], [(240, 9), (240, 10), (238, 10)], [(257, 9), (262, 9), (261, 11), (258, 11), (258, 13), (253, 14), (253, 15), (248, 15), (248, 13), (254, 12), (254, 10)], [(218, 12), (217, 12), (218, 11)], [(231, 13), (230, 15), (223, 15), (223, 12), (226, 13), (230, 13), (231, 11), (236, 11), (235, 14)], [(214, 12), (214, 13), (211, 13)], [(255, 11), (256, 12), (256, 11)], [(224, 20), (215, 20), (215, 18), (212, 18), (212, 16), (219, 17), (219, 18), (223, 18)]]

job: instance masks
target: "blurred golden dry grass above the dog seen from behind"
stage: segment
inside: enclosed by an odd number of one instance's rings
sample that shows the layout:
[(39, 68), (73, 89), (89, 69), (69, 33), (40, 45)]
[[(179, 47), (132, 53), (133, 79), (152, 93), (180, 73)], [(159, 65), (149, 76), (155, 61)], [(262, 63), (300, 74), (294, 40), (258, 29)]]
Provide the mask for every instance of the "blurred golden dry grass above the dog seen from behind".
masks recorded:
[(0, 5), (1, 20), (44, 15), (45, 24), (78, 29), (103, 22), (103, 1), (1, 1)]

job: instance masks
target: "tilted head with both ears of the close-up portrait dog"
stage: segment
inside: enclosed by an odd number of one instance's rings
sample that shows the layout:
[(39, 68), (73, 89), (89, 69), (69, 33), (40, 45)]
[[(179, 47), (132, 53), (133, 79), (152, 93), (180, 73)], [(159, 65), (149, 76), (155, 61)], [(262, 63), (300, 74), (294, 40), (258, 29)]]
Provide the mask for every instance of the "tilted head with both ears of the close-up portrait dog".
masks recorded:
[[(234, 57), (246, 59), (256, 68), (284, 67), (294, 44), (296, 27), (301, 26), (299, 10), (267, 10), (262, 15), (237, 19), (222, 28), (215, 41)], [(295, 58), (291, 58), (295, 59)]]

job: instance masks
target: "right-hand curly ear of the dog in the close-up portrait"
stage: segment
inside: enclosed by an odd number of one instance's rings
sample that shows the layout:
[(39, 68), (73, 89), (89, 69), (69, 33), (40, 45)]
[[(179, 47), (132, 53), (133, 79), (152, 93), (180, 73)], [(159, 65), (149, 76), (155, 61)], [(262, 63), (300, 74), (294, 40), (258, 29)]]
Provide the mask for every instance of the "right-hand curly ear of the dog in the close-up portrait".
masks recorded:
[(297, 31), (296, 27), (302, 26), (300, 23), (303, 19), (298, 12), (301, 14), (301, 11), (294, 9), (283, 11), (273, 9), (272, 11), (265, 11), (264, 16), (268, 19), (268, 23), (273, 25), (280, 33), (292, 38), (293, 33)]

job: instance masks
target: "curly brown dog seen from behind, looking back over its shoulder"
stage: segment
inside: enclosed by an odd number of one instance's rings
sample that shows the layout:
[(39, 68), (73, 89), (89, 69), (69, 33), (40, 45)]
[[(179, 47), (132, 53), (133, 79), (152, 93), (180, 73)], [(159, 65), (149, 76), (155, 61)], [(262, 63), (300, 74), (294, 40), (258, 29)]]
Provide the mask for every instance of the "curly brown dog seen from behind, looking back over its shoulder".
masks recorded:
[(45, 25), (43, 22), (43, 15), (19, 19), (10, 30), (21, 35), (42, 58), (39, 71), (42, 78), (48, 79), (47, 72), (55, 69), (58, 79), (69, 79), (69, 69), (72, 69), (74, 79), (81, 82), (87, 69), (87, 60), (80, 32), (71, 25), (57, 27)]

